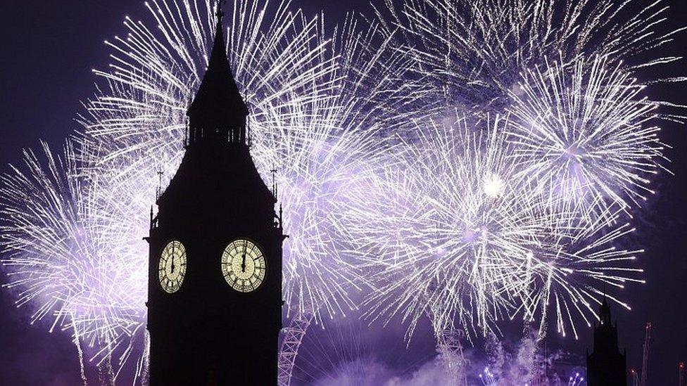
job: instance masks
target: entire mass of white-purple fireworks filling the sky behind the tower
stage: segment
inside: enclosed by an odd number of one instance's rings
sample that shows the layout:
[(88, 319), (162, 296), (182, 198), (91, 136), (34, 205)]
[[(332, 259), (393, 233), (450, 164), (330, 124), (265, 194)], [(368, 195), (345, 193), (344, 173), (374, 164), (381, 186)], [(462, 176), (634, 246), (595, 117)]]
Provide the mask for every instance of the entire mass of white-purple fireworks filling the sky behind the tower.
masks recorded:
[[(644, 282), (643, 250), (626, 240), (670, 173), (662, 122), (683, 121), (647, 91), (687, 78), (643, 77), (680, 59), (657, 51), (682, 30), (664, 27), (663, 1), (626, 16), (638, 1), (385, 0), (333, 28), (289, 1), (230, 3), (251, 154), (289, 235), (280, 385), (310, 323), (351, 310), (400, 319), (408, 344), (429, 319), (455, 380), (462, 345), (504, 323), (533, 331), (527, 366), (550, 324), (577, 338), (604, 297), (631, 308), (620, 290)], [(84, 361), (108, 384), (125, 366), (146, 377), (141, 238), (217, 22), (215, 1), (145, 7), (153, 22), (127, 16), (105, 41), (82, 130), (0, 177), (4, 287), (32, 323), (73, 335), (84, 384)], [(506, 373), (477, 378), (532, 379)]]

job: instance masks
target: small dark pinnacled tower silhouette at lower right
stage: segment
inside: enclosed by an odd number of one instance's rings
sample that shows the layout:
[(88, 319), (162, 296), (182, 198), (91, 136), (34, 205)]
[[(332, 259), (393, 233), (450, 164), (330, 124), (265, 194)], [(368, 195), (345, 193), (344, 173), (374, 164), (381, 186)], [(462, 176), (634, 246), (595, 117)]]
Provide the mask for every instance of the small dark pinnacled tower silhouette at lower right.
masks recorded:
[(603, 298), (599, 324), (594, 323), (594, 351), (587, 353), (588, 386), (626, 386), (625, 352), (618, 349), (618, 326), (611, 324), (611, 309)]

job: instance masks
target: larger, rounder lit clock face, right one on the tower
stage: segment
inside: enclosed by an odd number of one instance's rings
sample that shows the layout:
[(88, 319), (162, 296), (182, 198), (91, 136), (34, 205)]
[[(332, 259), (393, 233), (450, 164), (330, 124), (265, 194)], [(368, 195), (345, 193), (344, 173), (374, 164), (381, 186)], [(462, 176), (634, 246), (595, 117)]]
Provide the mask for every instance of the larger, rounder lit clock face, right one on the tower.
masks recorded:
[(251, 240), (234, 240), (222, 253), (222, 275), (239, 292), (251, 292), (265, 280), (267, 265), (263, 251)]

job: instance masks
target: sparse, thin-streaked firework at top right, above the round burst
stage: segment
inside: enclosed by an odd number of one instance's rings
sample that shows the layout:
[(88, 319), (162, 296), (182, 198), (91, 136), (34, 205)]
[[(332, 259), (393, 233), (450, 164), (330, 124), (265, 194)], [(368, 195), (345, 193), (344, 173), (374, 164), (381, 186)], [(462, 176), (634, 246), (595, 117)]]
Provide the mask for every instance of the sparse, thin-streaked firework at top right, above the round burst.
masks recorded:
[(520, 72), (548, 57), (567, 64), (608, 56), (616, 64), (642, 55), (641, 63), (624, 65), (630, 71), (679, 60), (657, 50), (683, 30), (664, 27), (667, 13), (660, 0), (386, 0), (377, 8), (440, 108), (448, 103), (483, 112), (508, 107), (509, 94), (519, 92)]

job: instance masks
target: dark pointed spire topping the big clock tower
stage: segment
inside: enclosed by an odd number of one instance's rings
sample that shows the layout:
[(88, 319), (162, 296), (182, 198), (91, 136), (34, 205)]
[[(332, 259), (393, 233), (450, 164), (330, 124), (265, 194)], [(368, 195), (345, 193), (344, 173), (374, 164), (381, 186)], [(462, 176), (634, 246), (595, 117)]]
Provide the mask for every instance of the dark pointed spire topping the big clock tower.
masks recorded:
[(246, 144), (246, 116), (248, 108), (234, 80), (227, 59), (222, 32), (222, 1), (217, 2), (215, 40), (208, 60), (208, 68), (198, 87), (189, 116), (189, 146), (202, 139)]

